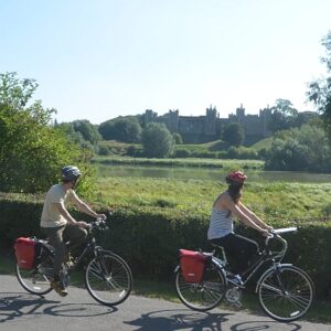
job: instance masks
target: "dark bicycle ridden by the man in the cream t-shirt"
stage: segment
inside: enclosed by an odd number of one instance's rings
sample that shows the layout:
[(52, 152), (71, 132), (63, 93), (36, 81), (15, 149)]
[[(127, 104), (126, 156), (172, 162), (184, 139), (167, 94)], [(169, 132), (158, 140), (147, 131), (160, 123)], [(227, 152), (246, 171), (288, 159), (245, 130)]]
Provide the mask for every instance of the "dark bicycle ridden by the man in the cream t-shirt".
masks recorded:
[[(132, 288), (132, 274), (127, 263), (110, 250), (96, 245), (95, 229), (108, 229), (106, 220), (97, 218), (87, 226), (87, 242), (74, 263), (64, 263), (61, 280), (67, 286), (70, 274), (81, 264), (87, 254), (93, 257), (85, 265), (85, 286), (89, 295), (105, 306), (124, 302)], [(30, 293), (44, 296), (52, 291), (54, 249), (47, 241), (36, 239), (40, 254), (35, 266), (23, 269), (17, 264), (15, 274), (20, 285)]]

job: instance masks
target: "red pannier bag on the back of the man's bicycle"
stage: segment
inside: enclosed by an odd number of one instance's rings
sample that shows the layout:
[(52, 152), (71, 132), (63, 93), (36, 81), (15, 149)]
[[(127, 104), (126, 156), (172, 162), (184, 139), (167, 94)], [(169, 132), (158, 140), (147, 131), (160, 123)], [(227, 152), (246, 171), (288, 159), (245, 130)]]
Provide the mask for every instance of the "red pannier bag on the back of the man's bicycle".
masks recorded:
[(33, 238), (19, 237), (14, 243), (14, 250), (19, 266), (22, 269), (32, 269), (35, 260), (35, 241)]

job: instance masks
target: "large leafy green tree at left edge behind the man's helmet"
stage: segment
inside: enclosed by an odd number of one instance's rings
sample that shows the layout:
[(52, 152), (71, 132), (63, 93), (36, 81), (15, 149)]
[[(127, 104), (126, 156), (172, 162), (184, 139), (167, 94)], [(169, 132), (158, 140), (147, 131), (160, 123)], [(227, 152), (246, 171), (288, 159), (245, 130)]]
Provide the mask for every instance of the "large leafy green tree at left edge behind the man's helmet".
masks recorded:
[[(64, 164), (88, 158), (63, 131), (50, 126), (54, 109), (41, 102), (26, 106), (36, 88), (33, 79), (0, 74), (0, 191), (40, 192), (54, 183)], [(86, 173), (85, 171), (85, 173)], [(86, 179), (86, 178), (85, 178)], [(83, 184), (84, 185), (84, 184)]]

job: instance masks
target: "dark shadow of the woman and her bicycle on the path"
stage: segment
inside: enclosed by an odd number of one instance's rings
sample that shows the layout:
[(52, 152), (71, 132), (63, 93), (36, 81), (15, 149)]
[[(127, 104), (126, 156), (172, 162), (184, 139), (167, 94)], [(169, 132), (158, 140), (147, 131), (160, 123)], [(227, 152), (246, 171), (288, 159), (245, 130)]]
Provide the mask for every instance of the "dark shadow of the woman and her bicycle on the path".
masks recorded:
[[(191, 331), (258, 331), (270, 330), (278, 331), (279, 322), (277, 321), (249, 321), (228, 325), (231, 318), (235, 313), (213, 313), (213, 312), (193, 312), (183, 310), (159, 310), (146, 314), (132, 321), (124, 321), (129, 325), (138, 327), (136, 331), (174, 331), (174, 330), (191, 330)], [(226, 325), (224, 324), (226, 323)], [(298, 331), (301, 327), (296, 323), (282, 324), (281, 330)]]

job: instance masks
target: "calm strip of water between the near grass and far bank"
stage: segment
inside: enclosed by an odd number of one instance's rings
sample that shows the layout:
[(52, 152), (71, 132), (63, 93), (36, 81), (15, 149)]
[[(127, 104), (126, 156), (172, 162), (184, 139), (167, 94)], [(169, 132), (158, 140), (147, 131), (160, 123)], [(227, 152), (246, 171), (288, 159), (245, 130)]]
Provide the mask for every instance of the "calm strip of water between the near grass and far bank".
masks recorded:
[[(146, 177), (146, 178), (178, 178), (197, 180), (223, 180), (226, 171), (223, 169), (191, 168), (191, 167), (138, 167), (97, 164), (98, 177)], [(331, 174), (306, 173), (293, 171), (245, 171), (249, 181), (286, 181), (306, 183), (330, 183)]]

